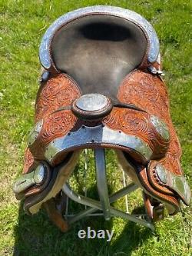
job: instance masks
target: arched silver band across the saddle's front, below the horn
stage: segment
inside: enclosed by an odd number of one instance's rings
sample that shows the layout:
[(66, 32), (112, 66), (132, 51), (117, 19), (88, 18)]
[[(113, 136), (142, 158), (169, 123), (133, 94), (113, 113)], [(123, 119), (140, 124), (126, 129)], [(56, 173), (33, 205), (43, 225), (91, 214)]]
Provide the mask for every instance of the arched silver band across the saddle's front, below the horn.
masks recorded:
[(51, 162), (55, 155), (61, 151), (70, 151), (78, 147), (90, 147), (94, 144), (120, 145), (139, 152), (146, 161), (151, 159), (153, 151), (141, 139), (124, 132), (114, 131), (107, 126), (95, 127), (81, 126), (78, 131), (70, 132), (61, 138), (55, 138), (45, 148), (45, 158)]

